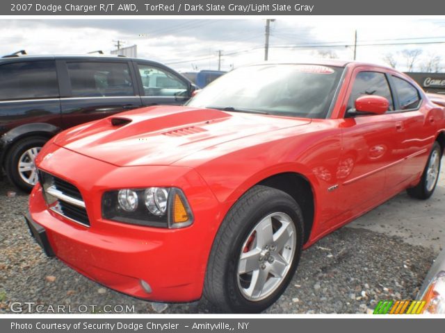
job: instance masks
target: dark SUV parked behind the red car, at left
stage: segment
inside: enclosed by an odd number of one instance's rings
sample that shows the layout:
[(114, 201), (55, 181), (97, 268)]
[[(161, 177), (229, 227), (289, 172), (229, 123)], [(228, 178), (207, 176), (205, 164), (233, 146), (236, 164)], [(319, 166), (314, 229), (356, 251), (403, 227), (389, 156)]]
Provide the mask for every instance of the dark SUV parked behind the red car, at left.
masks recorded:
[(119, 56), (3, 57), (0, 166), (10, 182), (30, 191), (37, 182), (34, 158), (60, 130), (142, 106), (183, 104), (194, 89), (181, 74), (147, 60)]

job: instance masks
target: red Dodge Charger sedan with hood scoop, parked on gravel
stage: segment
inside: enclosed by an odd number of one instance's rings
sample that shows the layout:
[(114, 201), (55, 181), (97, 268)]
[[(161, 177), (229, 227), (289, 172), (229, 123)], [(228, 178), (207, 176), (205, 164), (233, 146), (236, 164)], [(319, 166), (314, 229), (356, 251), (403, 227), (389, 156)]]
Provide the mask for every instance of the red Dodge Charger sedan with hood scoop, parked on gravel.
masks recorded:
[(398, 71), (253, 65), (184, 107), (56, 135), (26, 219), (48, 255), (111, 289), (261, 311), (303, 248), (400, 191), (430, 197), (444, 147), (444, 108)]

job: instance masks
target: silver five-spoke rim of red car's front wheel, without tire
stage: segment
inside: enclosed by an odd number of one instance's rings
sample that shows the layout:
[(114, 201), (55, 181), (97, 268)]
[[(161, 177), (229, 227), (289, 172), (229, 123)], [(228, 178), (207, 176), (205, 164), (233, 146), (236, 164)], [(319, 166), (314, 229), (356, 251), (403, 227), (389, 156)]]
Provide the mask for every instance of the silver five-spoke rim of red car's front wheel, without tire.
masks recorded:
[(291, 217), (275, 212), (248, 234), (238, 259), (238, 288), (251, 301), (264, 300), (285, 280), (296, 253), (297, 232)]

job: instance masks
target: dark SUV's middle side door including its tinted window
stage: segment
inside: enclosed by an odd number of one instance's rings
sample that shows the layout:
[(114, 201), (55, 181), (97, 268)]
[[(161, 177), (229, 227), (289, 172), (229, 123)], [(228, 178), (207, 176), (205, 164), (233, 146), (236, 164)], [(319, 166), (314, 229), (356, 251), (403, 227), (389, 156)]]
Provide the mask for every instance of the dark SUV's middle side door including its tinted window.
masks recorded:
[(58, 61), (58, 69), (63, 78), (60, 103), (64, 128), (142, 105), (127, 60), (74, 58)]

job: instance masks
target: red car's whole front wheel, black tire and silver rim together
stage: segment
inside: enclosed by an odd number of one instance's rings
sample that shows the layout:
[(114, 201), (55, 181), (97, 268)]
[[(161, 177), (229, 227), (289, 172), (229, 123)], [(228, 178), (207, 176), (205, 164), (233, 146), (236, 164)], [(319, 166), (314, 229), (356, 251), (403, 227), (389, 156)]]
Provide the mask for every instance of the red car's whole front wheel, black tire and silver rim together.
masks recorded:
[[(274, 241), (278, 234), (283, 237)], [(225, 312), (267, 309), (291, 282), (302, 241), (303, 217), (298, 203), (283, 191), (253, 187), (231, 208), (216, 234), (204, 297)], [(258, 288), (252, 289), (254, 285)]]

